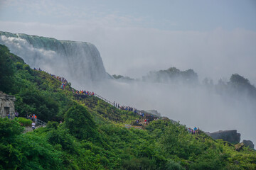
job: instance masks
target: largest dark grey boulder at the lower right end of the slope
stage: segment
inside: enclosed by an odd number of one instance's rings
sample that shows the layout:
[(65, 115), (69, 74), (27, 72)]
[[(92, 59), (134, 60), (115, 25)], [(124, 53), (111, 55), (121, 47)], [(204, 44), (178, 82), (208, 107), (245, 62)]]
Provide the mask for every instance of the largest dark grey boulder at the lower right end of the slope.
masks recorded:
[(240, 133), (238, 133), (237, 130), (220, 130), (210, 133), (209, 135), (215, 140), (222, 139), (231, 143), (240, 142)]

